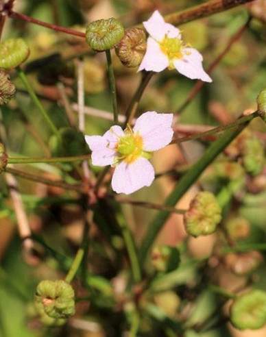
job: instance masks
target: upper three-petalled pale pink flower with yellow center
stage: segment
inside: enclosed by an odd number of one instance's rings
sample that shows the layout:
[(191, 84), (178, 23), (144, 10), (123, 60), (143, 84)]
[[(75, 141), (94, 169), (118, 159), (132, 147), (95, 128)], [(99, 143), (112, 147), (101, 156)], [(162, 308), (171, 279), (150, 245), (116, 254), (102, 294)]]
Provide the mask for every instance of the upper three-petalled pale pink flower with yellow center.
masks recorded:
[(182, 75), (191, 79), (212, 82), (202, 67), (202, 55), (196, 49), (185, 45), (180, 29), (166, 23), (158, 10), (143, 25), (149, 33), (147, 51), (138, 71), (163, 71), (176, 68)]

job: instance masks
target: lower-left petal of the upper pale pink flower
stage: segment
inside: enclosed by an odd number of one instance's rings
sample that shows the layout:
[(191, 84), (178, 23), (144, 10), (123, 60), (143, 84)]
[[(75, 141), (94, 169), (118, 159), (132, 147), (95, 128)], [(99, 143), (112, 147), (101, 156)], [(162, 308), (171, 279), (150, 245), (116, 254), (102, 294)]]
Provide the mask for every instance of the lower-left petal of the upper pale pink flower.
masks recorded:
[(160, 45), (153, 38), (147, 39), (147, 51), (138, 67), (138, 71), (155, 71), (156, 73), (163, 71), (169, 66), (167, 55), (162, 53)]

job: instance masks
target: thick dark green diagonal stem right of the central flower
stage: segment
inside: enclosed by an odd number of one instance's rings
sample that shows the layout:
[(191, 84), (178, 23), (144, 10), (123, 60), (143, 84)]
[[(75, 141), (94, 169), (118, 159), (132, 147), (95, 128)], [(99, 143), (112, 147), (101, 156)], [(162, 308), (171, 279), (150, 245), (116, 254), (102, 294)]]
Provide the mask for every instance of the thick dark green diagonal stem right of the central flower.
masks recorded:
[[(204, 169), (211, 162), (213, 162), (213, 160), (215, 160), (217, 155), (219, 155), (219, 153), (221, 153), (221, 151), (223, 151), (223, 149), (225, 149), (234, 138), (236, 138), (240, 134), (240, 132), (246, 127), (246, 125), (247, 123), (239, 125), (236, 129), (227, 130), (221, 136), (219, 136), (219, 138), (217, 138), (217, 140), (215, 140), (215, 142), (213, 142), (208, 147), (208, 149), (206, 149), (204, 155), (202, 155), (202, 158), (200, 158), (191, 167), (191, 169), (182, 176), (178, 184), (176, 184), (175, 188), (173, 189), (173, 192), (171, 192), (171, 195), (169, 195), (169, 197), (165, 201), (165, 205), (171, 207), (176, 205), (176, 203), (180, 200), (184, 193), (202, 174)], [(160, 232), (160, 229), (162, 229), (162, 226), (164, 225), (168, 216), (169, 212), (162, 210), (158, 214), (156, 214), (155, 218), (152, 220), (152, 223), (150, 223), (138, 255), (139, 261), (141, 261), (143, 264), (145, 262), (147, 253), (149, 252), (149, 249), (151, 249), (156, 236)]]

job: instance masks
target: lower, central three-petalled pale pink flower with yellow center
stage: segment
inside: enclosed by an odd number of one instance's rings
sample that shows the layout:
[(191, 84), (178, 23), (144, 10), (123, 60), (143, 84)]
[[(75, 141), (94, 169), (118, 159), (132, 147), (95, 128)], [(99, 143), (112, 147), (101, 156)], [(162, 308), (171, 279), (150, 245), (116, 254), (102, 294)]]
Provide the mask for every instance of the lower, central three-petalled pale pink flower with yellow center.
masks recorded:
[(85, 136), (95, 166), (114, 166), (112, 189), (129, 195), (154, 180), (152, 153), (171, 142), (173, 114), (148, 111), (123, 131), (113, 125), (104, 136)]

